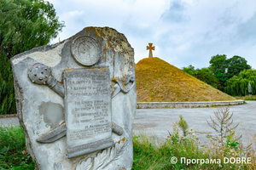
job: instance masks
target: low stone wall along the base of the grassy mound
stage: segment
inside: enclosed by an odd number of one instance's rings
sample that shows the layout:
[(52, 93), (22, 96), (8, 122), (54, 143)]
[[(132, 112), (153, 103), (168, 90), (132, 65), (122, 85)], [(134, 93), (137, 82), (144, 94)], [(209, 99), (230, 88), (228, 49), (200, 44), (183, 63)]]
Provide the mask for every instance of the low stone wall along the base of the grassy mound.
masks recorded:
[(208, 102), (137, 102), (137, 109), (212, 107), (221, 105), (241, 105), (244, 103), (244, 100)]

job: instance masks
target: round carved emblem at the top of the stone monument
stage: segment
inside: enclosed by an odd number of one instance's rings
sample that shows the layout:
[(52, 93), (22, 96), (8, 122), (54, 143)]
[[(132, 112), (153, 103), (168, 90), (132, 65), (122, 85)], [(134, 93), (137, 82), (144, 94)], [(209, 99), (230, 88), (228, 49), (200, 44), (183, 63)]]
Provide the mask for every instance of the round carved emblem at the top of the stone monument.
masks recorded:
[(94, 65), (100, 59), (100, 47), (92, 37), (80, 36), (73, 40), (71, 54), (81, 65)]

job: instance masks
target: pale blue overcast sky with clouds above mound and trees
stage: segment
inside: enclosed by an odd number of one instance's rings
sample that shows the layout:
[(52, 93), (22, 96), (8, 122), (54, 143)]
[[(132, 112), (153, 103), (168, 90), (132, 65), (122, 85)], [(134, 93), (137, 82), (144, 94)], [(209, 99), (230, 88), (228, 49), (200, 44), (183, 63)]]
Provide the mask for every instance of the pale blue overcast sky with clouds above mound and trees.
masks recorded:
[[(125, 34), (135, 62), (154, 57), (178, 68), (209, 66), (213, 55), (239, 55), (256, 68), (256, 0), (49, 0), (65, 21), (61, 41), (86, 26)], [(52, 42), (59, 42), (57, 37)]]

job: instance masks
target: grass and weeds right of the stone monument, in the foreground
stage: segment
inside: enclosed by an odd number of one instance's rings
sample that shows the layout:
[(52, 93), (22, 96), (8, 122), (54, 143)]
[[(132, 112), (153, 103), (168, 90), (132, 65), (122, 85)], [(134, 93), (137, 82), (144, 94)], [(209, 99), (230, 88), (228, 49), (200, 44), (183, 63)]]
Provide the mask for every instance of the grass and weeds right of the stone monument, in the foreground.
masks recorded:
[[(145, 135), (139, 135), (133, 137), (133, 170), (142, 169), (255, 169), (255, 150), (247, 150), (239, 148), (239, 143), (236, 141), (220, 145), (218, 141), (209, 137), (209, 141), (205, 145), (200, 145), (195, 134), (189, 133), (189, 135), (183, 137), (179, 133), (172, 133), (171, 136), (166, 139), (166, 143), (156, 145), (154, 140), (146, 137)], [(250, 153), (251, 164), (238, 164), (238, 163), (224, 163), (224, 157), (246, 157)], [(170, 159), (172, 156), (177, 157), (177, 163), (172, 164)], [(220, 163), (184, 163), (181, 158), (185, 157), (186, 160), (203, 159), (208, 160), (220, 160)], [(186, 161), (187, 162), (187, 161)]]

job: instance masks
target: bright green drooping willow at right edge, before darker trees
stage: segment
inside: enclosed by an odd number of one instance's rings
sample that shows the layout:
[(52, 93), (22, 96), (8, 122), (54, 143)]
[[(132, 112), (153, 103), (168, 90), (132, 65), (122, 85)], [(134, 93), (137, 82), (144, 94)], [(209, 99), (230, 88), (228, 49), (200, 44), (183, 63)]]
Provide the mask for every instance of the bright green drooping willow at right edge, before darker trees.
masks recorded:
[(256, 94), (256, 70), (243, 70), (238, 76), (230, 78), (226, 82), (224, 92), (232, 96), (245, 96), (248, 94), (248, 84), (251, 83), (252, 94)]

